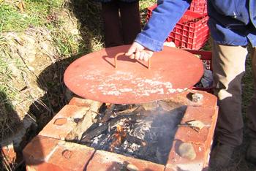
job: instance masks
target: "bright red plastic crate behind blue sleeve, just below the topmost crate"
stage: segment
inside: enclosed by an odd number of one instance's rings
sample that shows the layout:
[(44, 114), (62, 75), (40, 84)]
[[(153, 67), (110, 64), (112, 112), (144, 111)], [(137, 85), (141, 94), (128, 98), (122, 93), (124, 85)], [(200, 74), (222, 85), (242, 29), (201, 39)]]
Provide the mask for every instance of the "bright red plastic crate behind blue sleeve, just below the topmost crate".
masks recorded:
[[(155, 7), (157, 5), (148, 7), (147, 20), (151, 17)], [(176, 47), (199, 50), (209, 37), (207, 21), (207, 14), (187, 10), (167, 37), (166, 42), (174, 42)]]

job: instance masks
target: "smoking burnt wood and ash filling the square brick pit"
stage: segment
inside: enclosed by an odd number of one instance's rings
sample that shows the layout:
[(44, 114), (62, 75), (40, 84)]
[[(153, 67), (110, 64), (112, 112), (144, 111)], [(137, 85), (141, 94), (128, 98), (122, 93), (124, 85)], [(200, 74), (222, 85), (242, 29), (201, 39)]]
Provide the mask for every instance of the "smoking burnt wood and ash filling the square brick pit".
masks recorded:
[(186, 106), (165, 101), (150, 104), (108, 104), (78, 143), (166, 164), (173, 137)]

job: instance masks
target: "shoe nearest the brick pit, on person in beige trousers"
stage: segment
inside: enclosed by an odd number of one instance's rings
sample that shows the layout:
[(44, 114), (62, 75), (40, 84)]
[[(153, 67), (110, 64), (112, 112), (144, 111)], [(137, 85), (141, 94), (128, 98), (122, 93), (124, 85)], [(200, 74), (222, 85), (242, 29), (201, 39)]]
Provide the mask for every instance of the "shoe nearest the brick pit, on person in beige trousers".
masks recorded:
[(225, 168), (230, 164), (234, 147), (218, 143), (213, 151), (211, 151), (210, 167)]

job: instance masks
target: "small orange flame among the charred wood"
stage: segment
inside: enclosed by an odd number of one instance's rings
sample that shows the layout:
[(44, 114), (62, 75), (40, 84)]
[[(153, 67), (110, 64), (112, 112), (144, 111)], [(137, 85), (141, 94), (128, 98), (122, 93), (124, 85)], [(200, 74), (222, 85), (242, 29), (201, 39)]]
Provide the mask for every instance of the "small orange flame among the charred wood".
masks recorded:
[(111, 135), (111, 140), (113, 140), (113, 142), (110, 145), (110, 151), (113, 151), (113, 149), (118, 146), (121, 145), (121, 143), (124, 141), (124, 138), (127, 136), (127, 132), (124, 131), (124, 127), (122, 127), (121, 125), (116, 125), (116, 132), (114, 134)]

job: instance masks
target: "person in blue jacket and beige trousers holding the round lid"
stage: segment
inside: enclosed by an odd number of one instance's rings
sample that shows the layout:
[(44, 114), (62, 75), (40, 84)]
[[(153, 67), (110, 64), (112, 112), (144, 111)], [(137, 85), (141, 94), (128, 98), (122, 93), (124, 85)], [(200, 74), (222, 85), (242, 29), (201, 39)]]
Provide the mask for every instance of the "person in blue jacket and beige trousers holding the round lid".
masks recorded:
[[(163, 42), (189, 7), (189, 0), (158, 0), (143, 31), (126, 55), (147, 61), (162, 50)], [(227, 167), (234, 149), (243, 140), (241, 78), (247, 53), (252, 57), (256, 86), (256, 1), (208, 0), (208, 26), (213, 38), (214, 94), (218, 97), (219, 118), (215, 130), (217, 145), (211, 151), (211, 166)], [(252, 47), (249, 52), (246, 47)], [(250, 142), (246, 159), (256, 164), (256, 91), (247, 110)]]

